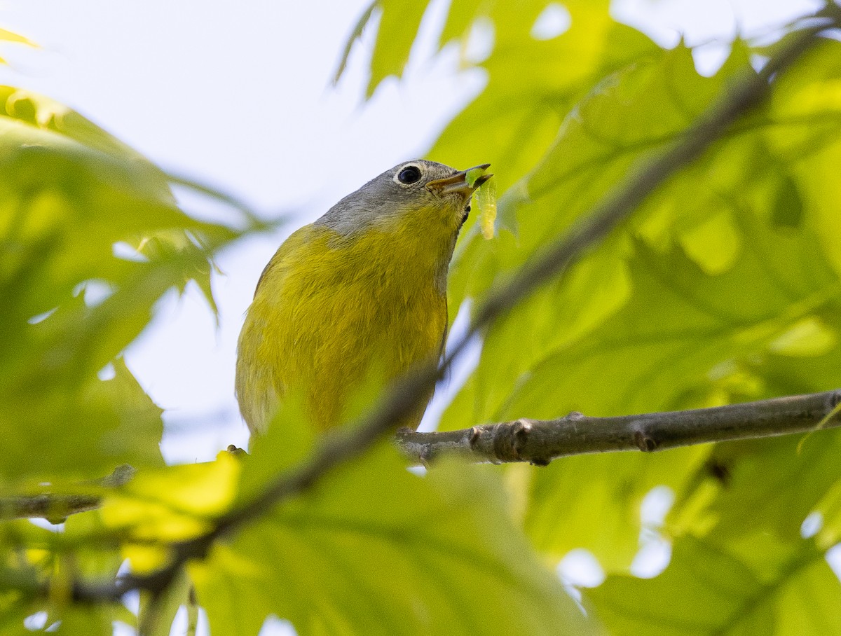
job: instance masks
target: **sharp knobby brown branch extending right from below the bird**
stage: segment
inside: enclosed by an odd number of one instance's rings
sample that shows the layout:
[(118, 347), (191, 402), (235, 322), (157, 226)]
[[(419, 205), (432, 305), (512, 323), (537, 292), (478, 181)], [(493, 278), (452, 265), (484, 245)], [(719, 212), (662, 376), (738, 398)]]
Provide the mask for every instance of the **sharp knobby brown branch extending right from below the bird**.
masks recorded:
[(616, 418), (569, 413), (558, 419), (518, 419), (442, 433), (402, 428), (397, 444), (412, 460), (424, 464), (441, 455), (458, 455), (494, 464), (527, 461), (546, 465), (567, 455), (621, 450), (651, 453), (693, 444), (807, 433), (819, 426), (841, 427), (837, 417), (821, 426), (839, 402), (841, 390)]

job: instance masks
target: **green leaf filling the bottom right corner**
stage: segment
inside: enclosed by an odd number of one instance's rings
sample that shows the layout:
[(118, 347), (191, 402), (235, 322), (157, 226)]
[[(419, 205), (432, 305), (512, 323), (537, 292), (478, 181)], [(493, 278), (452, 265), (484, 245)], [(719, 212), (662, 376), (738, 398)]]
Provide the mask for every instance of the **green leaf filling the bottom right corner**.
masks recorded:
[(660, 576), (609, 576), (584, 596), (617, 636), (841, 633), (841, 584), (822, 557), (804, 542), (769, 573), (687, 536)]

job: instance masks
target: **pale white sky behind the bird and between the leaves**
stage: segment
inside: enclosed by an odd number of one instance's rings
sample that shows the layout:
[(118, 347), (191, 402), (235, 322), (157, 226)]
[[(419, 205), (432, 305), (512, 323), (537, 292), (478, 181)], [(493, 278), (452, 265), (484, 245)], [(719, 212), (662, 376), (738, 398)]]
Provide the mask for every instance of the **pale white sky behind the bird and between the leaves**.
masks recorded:
[[(42, 47), (0, 46), (12, 63), (0, 67), (0, 83), (55, 97), (164, 169), (231, 192), (267, 216), (299, 212), (279, 234), (220, 256), (219, 329), (198, 292), (173, 293), (126, 352), (167, 409), (167, 460), (209, 460), (227, 444), (246, 446), (233, 396), (236, 337), (278, 244), (379, 172), (423, 155), (484, 86), (482, 71), (458, 71), (454, 47), (432, 57), (447, 4), (433, 0), (406, 79), (386, 81), (363, 102), (370, 33), (339, 86), (330, 78), (368, 0), (0, 0), (0, 26)], [(731, 37), (737, 24), (757, 34), (820, 4), (621, 0), (614, 14), (661, 44), (684, 34), (697, 45)], [(713, 43), (696, 62), (708, 72), (726, 52)]]

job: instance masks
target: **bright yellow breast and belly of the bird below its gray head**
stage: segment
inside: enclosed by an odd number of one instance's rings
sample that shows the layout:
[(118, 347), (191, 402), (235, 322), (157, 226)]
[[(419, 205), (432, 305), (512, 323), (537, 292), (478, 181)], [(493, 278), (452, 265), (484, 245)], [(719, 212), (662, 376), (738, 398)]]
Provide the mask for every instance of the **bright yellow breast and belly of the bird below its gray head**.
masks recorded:
[(239, 341), (236, 392), (252, 431), (265, 430), (289, 392), (302, 393), (315, 425), (330, 428), (368, 373), (394, 378), (441, 354), (455, 235), (422, 212), (415, 218), (428, 227), (403, 219), (342, 236), (313, 224), (281, 245)]

